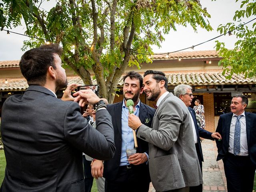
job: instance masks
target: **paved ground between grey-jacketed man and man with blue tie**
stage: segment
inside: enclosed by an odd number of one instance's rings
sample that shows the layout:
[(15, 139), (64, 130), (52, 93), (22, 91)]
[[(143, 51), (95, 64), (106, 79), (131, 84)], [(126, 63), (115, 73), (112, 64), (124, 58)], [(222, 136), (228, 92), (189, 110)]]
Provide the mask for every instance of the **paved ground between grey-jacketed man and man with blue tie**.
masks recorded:
[[(222, 161), (216, 161), (217, 148), (212, 140), (204, 139), (202, 141), (202, 150), (204, 154), (203, 162), (203, 192), (227, 192), (226, 177)], [(150, 184), (149, 192), (155, 192)]]

